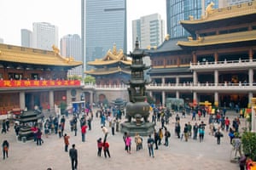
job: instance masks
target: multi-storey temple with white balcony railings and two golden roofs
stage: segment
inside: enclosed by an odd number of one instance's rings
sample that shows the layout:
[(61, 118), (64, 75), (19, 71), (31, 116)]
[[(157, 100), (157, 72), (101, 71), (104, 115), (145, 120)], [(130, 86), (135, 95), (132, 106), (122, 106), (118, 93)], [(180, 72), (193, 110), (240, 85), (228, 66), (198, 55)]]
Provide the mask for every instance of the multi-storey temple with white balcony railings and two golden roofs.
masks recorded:
[(210, 102), (221, 107), (250, 105), (256, 96), (256, 3), (212, 8), (201, 19), (181, 20), (190, 37), (166, 37), (148, 51), (152, 84), (148, 93), (157, 103), (166, 98), (186, 103)]

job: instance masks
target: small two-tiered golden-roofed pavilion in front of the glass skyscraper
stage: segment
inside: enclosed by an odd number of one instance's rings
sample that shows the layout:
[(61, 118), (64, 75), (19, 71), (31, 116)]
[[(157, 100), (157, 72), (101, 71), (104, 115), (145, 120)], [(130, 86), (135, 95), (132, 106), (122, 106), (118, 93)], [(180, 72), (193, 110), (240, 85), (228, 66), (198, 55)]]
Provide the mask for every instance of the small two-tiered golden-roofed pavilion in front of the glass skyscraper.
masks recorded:
[(95, 77), (98, 86), (121, 85), (128, 82), (131, 77), (131, 59), (123, 53), (122, 49), (117, 51), (115, 44), (113, 50), (109, 49), (102, 59), (89, 61), (87, 64), (95, 67), (85, 73)]

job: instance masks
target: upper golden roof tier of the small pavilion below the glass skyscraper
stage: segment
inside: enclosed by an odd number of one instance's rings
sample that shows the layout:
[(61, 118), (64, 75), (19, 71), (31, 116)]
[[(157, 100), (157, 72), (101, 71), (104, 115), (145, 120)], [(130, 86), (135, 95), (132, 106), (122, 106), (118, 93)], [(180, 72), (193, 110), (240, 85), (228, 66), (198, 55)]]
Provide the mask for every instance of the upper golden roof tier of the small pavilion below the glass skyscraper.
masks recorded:
[(89, 61), (88, 65), (113, 65), (114, 63), (122, 62), (125, 65), (131, 65), (131, 59), (123, 53), (122, 49), (116, 50), (115, 44), (113, 45), (113, 50), (108, 50), (107, 54), (102, 59), (95, 59), (94, 61)]

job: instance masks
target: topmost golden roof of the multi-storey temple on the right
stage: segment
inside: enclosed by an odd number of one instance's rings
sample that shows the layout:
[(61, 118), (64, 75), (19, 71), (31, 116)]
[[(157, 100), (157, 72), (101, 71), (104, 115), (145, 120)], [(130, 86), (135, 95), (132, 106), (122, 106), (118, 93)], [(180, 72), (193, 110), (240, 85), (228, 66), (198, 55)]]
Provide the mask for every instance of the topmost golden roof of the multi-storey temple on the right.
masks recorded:
[(180, 24), (201, 24), (213, 20), (236, 18), (247, 14), (256, 14), (256, 3), (241, 3), (226, 8), (212, 8), (210, 4), (206, 8), (206, 14), (203, 14), (201, 19), (195, 20), (193, 16), (189, 16), (189, 20), (181, 20)]

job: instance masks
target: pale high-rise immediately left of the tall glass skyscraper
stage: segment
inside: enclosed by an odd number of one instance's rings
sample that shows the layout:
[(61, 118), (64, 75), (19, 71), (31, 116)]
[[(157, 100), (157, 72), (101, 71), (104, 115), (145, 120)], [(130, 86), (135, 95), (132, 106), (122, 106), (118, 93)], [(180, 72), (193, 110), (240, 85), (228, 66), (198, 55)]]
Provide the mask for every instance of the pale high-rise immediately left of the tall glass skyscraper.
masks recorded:
[[(61, 56), (73, 57), (74, 60), (82, 61), (81, 38), (78, 34), (64, 36), (61, 38)], [(68, 71), (68, 75), (82, 76), (82, 65)]]

